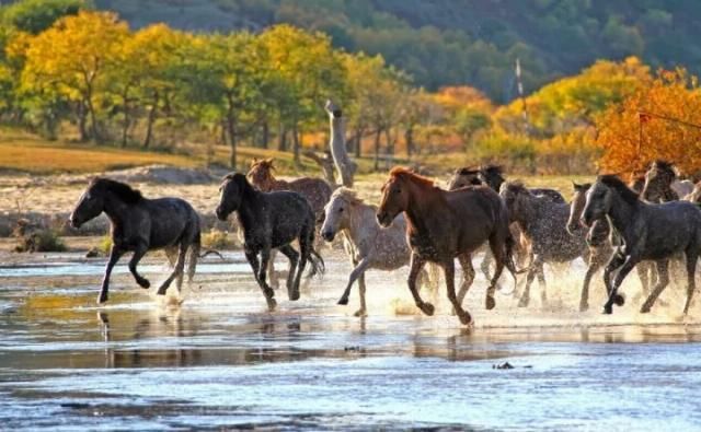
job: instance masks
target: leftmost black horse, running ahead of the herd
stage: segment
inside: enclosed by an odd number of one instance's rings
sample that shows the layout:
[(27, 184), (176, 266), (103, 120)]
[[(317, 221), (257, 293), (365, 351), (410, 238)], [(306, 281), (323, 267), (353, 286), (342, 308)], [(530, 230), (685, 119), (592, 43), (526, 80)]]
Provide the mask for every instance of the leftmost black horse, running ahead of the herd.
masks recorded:
[(175, 278), (180, 291), (188, 249), (187, 276), (192, 280), (199, 257), (200, 227), (199, 217), (187, 201), (180, 198), (147, 199), (124, 183), (94, 178), (71, 213), (70, 224), (80, 227), (103, 211), (112, 222), (112, 250), (97, 303), (107, 301), (112, 268), (127, 252), (134, 253), (129, 271), (143, 289), (151, 284), (137, 272), (136, 266), (148, 250), (153, 249), (165, 249), (171, 264), (175, 261), (173, 272), (158, 289), (160, 295), (165, 294)]

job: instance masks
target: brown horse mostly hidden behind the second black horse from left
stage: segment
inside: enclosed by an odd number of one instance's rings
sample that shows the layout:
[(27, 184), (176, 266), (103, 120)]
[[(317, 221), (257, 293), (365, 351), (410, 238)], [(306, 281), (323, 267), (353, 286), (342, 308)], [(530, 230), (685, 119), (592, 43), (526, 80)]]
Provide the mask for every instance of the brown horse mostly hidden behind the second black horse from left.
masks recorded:
[(291, 190), (307, 198), (317, 218), (323, 218), (324, 206), (331, 199), (333, 190), (321, 178), (301, 177), (291, 182), (278, 180), (273, 176), (274, 160), (253, 160), (246, 177), (257, 189), (264, 192), (274, 190)]

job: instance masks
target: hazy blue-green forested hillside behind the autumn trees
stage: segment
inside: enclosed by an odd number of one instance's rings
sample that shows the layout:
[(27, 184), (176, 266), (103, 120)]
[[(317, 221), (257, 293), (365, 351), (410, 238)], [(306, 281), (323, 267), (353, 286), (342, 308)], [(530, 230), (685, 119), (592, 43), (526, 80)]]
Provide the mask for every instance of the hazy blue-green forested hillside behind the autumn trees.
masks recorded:
[(133, 26), (257, 31), (290, 23), (347, 50), (380, 52), (435, 90), (470, 84), (497, 102), (598, 58), (642, 57), (701, 72), (701, 1), (692, 0), (94, 0)]

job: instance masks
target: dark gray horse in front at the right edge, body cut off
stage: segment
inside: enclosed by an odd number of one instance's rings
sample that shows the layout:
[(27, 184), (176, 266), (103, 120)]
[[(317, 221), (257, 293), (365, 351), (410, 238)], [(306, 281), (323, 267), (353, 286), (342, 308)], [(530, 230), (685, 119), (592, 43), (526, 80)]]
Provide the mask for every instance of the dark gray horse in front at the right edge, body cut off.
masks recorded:
[[(657, 283), (641, 307), (641, 313), (650, 312), (657, 296), (669, 283), (669, 259), (675, 254), (683, 253), (687, 258), (688, 283), (683, 307), (686, 314), (696, 289), (696, 266), (701, 252), (699, 208), (687, 201), (662, 205), (641, 201), (637, 194), (617, 176), (604, 175), (597, 177), (587, 192), (582, 221), (590, 225), (604, 217), (608, 217), (622, 241), (604, 270), (604, 282), (609, 293), (604, 313), (612, 313), (613, 303), (623, 304), (618, 289), (633, 267), (645, 259), (655, 260), (657, 266)], [(611, 281), (611, 273), (616, 270), (618, 273)]]

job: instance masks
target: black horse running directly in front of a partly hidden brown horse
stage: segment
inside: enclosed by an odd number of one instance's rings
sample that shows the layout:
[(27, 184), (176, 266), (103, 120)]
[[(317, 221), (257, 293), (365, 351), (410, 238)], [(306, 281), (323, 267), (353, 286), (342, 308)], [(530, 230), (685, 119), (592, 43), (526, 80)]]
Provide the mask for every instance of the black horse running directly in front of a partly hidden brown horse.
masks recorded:
[[(265, 281), (273, 248), (289, 258), (287, 294), (289, 300), (299, 300), (299, 281), (307, 260), (311, 261), (313, 272), (323, 271), (323, 259), (313, 248), (315, 218), (309, 201), (294, 191), (258, 191), (245, 175), (239, 173), (228, 174), (219, 191), (221, 197), (217, 217), (225, 221), (232, 212), (238, 213), (243, 227), (245, 257), (263, 290), (268, 310), (273, 311), (276, 306), (275, 293)], [(299, 241), (300, 253), (290, 246), (296, 240)]]

